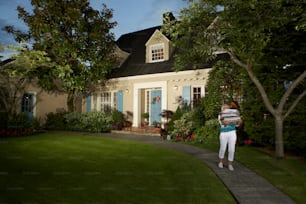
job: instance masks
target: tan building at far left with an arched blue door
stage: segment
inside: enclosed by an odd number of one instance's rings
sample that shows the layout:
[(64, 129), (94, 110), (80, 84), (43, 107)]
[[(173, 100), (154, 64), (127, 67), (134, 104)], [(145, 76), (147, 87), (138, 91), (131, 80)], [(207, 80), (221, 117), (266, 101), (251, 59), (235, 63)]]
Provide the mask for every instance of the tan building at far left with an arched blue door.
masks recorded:
[[(14, 60), (4, 60), (0, 68), (10, 63)], [(0, 114), (24, 112), (29, 120), (36, 117), (44, 122), (47, 113), (67, 110), (65, 93), (44, 91), (34, 79), (7, 77), (0, 73), (0, 89)]]

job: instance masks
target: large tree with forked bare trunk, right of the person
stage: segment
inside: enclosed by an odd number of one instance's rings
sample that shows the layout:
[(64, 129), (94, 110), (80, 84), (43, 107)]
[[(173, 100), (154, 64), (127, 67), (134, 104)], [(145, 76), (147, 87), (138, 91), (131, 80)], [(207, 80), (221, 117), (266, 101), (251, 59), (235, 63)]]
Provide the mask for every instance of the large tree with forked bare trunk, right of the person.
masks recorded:
[[(266, 109), (273, 115), (275, 155), (283, 158), (284, 120), (306, 95), (303, 84), (306, 77), (303, 57), (306, 47), (305, 4), (286, 0), (190, 2), (189, 8), (181, 11), (181, 21), (171, 30), (171, 37), (180, 50), (176, 68), (180, 70), (188, 65), (201, 68), (203, 62), (216, 56), (216, 52), (227, 53), (232, 62), (248, 73)], [(285, 43), (292, 40), (298, 43)], [(288, 55), (288, 50), (295, 51)], [(297, 69), (298, 65), (302, 68)], [(291, 85), (283, 90), (276, 103), (271, 102), (262, 79), (255, 74), (255, 70), (263, 67), (271, 72), (282, 69), (296, 72), (296, 78), (290, 76)], [(292, 94), (297, 87), (302, 87), (300, 93)]]

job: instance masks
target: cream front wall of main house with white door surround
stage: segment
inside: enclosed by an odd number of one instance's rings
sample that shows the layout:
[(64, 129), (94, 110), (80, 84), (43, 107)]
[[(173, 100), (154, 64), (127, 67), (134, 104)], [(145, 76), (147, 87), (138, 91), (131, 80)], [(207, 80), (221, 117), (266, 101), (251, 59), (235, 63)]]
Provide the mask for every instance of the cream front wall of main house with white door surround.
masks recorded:
[[(210, 69), (201, 69), (112, 79), (108, 81), (106, 87), (97, 89), (97, 92), (122, 90), (123, 113), (133, 113), (133, 117), (138, 117), (138, 120), (136, 120), (137, 124), (133, 125), (140, 126), (142, 121), (141, 113), (145, 110), (144, 102), (146, 89), (162, 87), (165, 92), (162, 101), (166, 100), (165, 102), (163, 101), (162, 109), (175, 111), (178, 106), (177, 98), (182, 96), (183, 87), (202, 86), (204, 88), (207, 83), (209, 70)], [(135, 93), (135, 91), (138, 91), (138, 93)], [(135, 104), (137, 104), (136, 107)], [(85, 102), (83, 102), (82, 110), (86, 111)]]

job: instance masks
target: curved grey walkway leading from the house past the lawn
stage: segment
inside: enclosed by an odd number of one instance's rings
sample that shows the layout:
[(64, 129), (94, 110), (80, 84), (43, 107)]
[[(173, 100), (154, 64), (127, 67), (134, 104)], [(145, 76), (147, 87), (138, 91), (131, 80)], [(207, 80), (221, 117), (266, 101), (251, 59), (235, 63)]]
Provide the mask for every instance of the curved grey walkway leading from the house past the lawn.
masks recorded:
[(281, 192), (263, 177), (235, 162), (235, 171), (227, 168), (217, 167), (218, 155), (210, 150), (202, 149), (192, 145), (168, 142), (158, 136), (135, 134), (111, 133), (102, 136), (127, 139), (171, 148), (186, 154), (190, 154), (207, 164), (215, 174), (223, 181), (238, 203), (259, 203), (259, 204), (291, 204), (295, 203), (286, 194)]

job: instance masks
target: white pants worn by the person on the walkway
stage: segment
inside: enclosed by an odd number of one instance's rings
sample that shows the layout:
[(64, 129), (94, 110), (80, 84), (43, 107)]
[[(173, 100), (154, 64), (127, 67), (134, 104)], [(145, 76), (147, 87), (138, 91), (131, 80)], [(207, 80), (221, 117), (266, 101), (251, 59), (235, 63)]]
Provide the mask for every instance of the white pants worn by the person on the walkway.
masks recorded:
[(220, 133), (220, 159), (224, 159), (224, 154), (228, 145), (228, 161), (234, 161), (236, 139), (237, 135), (235, 130)]

